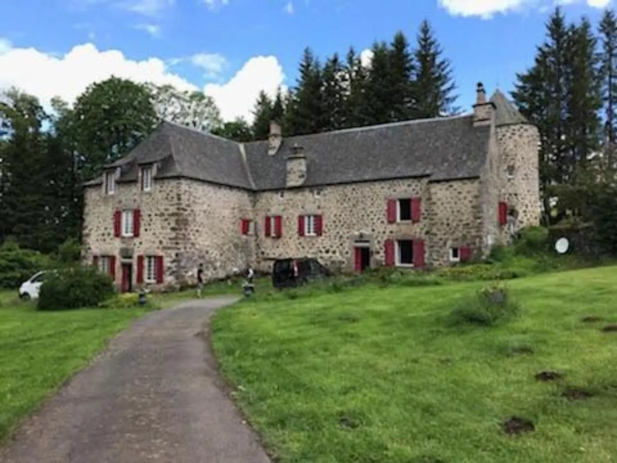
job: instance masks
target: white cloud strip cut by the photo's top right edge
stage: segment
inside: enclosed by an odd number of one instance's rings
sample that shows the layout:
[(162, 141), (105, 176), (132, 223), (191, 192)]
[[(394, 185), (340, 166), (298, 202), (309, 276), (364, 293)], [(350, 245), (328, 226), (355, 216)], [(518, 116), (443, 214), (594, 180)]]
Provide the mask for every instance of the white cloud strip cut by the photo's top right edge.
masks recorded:
[[(549, 0), (438, 0), (439, 6), (452, 15), (479, 16), (490, 19), (497, 13), (508, 13), (526, 8), (544, 7)], [(605, 8), (611, 0), (557, 0), (558, 4), (584, 3), (592, 8)]]

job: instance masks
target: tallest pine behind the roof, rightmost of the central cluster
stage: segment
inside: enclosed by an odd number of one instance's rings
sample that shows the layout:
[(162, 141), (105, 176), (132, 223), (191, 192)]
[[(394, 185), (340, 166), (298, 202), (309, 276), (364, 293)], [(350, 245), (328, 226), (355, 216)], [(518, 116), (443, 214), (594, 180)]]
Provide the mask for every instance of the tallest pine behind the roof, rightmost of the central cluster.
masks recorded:
[(443, 57), (443, 49), (428, 20), (420, 25), (414, 55), (414, 117), (423, 119), (458, 112), (454, 106), (458, 96), (454, 94), (456, 84), (452, 77), (452, 65)]

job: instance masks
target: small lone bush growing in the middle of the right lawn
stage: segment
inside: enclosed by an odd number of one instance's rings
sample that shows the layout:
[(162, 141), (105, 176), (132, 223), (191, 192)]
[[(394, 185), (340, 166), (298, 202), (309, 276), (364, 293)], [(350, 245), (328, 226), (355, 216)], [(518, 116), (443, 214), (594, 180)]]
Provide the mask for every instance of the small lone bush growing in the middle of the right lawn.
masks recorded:
[(462, 298), (450, 312), (453, 325), (482, 325), (491, 327), (515, 317), (518, 304), (505, 285), (493, 283), (482, 290)]

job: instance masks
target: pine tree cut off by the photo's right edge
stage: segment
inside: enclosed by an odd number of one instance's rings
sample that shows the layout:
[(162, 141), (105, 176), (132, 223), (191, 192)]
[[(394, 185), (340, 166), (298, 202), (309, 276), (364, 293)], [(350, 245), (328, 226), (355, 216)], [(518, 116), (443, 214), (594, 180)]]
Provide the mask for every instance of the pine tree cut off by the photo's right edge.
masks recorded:
[(617, 142), (617, 17), (615, 12), (608, 9), (600, 21), (600, 43), (602, 46), (602, 96), (604, 112), (604, 154), (607, 169), (607, 178), (610, 178), (615, 169), (614, 151)]

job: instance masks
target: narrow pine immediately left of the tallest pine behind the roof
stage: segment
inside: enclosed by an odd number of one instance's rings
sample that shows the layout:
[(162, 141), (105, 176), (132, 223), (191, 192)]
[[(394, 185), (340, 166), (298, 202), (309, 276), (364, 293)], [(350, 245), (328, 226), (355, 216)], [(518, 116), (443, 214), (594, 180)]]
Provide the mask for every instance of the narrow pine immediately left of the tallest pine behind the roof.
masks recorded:
[(392, 88), (392, 119), (406, 120), (413, 111), (413, 72), (415, 65), (407, 37), (402, 31), (394, 35), (390, 45), (390, 73)]

